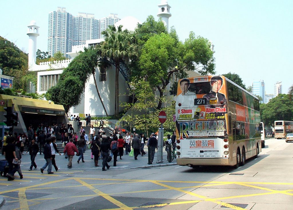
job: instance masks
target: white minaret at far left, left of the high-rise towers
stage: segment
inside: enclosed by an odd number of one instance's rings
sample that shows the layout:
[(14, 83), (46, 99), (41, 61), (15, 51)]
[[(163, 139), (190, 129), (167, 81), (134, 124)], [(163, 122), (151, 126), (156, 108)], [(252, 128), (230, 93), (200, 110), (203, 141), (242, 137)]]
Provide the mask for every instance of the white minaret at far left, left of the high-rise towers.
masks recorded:
[(35, 21), (30, 21), (28, 26), (28, 68), (36, 64), (37, 59), (37, 36), (39, 36), (39, 26)]

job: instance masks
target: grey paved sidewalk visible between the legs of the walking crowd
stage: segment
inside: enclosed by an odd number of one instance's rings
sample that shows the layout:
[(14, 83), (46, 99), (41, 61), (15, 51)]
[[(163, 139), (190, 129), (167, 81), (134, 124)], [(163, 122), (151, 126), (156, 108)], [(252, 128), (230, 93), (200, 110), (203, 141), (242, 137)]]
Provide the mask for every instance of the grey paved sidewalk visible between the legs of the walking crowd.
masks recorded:
[[(144, 148), (145, 152), (147, 152), (147, 147)], [(74, 156), (72, 160), (72, 168), (67, 168), (68, 159), (65, 159), (65, 156), (63, 154), (63, 151), (60, 151), (62, 155), (60, 156), (58, 153), (55, 155), (55, 160), (57, 166), (60, 168), (58, 171), (70, 171), (70, 170), (96, 170), (96, 169), (102, 169), (102, 159), (98, 161), (99, 167), (95, 167), (93, 159), (91, 159), (91, 150), (86, 149), (86, 152), (84, 153), (84, 163), (79, 162), (77, 163), (78, 156)], [(125, 152), (125, 150), (124, 150)], [(129, 154), (129, 153), (128, 153)], [(176, 159), (174, 159), (171, 163), (169, 163), (166, 159), (166, 152), (163, 151), (163, 162), (156, 163), (157, 161), (157, 152), (155, 153), (154, 162), (153, 164), (148, 164), (148, 154), (145, 154), (143, 157), (139, 155), (137, 157), (137, 160), (134, 160), (134, 157), (130, 157), (129, 155), (124, 154), (122, 156), (122, 160), (120, 160), (120, 157), (117, 157), (117, 166), (113, 166), (113, 158), (111, 162), (108, 164), (110, 165), (110, 169), (134, 169), (134, 168), (151, 168), (151, 167), (162, 167), (162, 166), (170, 166), (170, 165), (176, 165)], [(4, 159), (4, 156), (0, 156), (0, 159)], [(35, 158), (35, 163), (37, 164), (37, 170), (40, 171), (40, 168), (45, 164), (44, 155), (38, 153), (38, 155)], [(21, 158), (21, 170), (27, 171), (30, 168), (30, 155), (28, 153), (25, 153), (22, 155)], [(46, 170), (44, 173), (47, 172)], [(52, 172), (55, 172), (54, 167), (52, 166)], [(57, 172), (58, 173), (58, 172)], [(16, 173), (16, 176), (18, 174)]]

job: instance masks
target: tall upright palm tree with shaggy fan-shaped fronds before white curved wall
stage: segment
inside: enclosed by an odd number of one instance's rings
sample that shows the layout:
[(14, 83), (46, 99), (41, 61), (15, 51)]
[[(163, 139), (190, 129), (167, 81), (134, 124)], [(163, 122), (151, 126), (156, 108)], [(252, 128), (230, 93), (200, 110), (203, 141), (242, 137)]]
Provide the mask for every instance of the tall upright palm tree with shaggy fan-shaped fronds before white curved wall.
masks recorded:
[(136, 45), (133, 37), (127, 29), (122, 31), (122, 25), (109, 26), (101, 34), (105, 35), (105, 41), (101, 42), (102, 57), (105, 56), (115, 66), (115, 116), (119, 114), (119, 69), (120, 63), (129, 62), (136, 55)]

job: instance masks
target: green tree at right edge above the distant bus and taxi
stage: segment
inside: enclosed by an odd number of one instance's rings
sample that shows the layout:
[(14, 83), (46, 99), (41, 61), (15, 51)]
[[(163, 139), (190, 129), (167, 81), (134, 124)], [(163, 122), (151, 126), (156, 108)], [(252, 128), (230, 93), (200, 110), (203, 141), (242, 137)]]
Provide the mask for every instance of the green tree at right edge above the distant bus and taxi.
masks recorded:
[(260, 117), (265, 125), (271, 125), (275, 120), (293, 121), (293, 103), (287, 94), (279, 94), (267, 104), (260, 104)]

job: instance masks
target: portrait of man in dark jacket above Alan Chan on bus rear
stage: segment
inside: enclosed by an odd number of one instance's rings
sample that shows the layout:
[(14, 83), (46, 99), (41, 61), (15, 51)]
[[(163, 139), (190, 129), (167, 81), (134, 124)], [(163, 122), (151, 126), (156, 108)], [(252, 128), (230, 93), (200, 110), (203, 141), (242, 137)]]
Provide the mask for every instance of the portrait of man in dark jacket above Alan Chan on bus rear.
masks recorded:
[(211, 91), (204, 95), (207, 99), (206, 108), (227, 107), (227, 100), (224, 94), (219, 93), (223, 85), (223, 79), (220, 76), (213, 76), (211, 78)]

